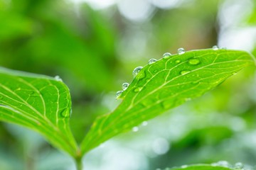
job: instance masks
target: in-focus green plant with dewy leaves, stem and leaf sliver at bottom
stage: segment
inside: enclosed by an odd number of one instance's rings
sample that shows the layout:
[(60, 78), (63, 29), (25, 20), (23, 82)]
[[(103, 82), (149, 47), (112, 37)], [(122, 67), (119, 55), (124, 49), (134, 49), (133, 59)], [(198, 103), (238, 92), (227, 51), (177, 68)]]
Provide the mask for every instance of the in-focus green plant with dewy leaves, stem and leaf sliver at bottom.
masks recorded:
[[(134, 80), (117, 93), (122, 103), (97, 118), (78, 145), (70, 130), (71, 98), (60, 77), (0, 69), (0, 120), (35, 130), (70, 154), (82, 169), (82, 156), (111, 137), (127, 132), (170, 108), (202, 96), (255, 59), (247, 52), (213, 49), (164, 54), (134, 69)], [(196, 165), (182, 169), (228, 169)], [(199, 168), (200, 167), (200, 168)]]

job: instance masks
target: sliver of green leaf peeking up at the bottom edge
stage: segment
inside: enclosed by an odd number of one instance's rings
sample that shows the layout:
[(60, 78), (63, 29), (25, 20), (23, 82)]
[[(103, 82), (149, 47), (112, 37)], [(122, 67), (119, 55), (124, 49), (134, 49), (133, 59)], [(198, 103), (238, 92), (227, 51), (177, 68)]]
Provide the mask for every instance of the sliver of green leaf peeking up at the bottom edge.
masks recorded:
[(164, 169), (164, 170), (230, 170), (228, 167), (223, 166), (212, 166), (209, 164), (193, 164), (189, 166), (181, 166), (181, 167), (175, 167), (171, 169)]

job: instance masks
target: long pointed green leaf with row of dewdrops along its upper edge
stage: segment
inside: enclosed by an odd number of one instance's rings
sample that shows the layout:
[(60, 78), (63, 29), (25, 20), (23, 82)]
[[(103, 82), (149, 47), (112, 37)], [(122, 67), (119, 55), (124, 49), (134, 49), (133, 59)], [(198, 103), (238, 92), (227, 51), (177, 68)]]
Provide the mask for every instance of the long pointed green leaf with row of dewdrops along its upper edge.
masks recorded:
[(82, 154), (170, 108), (202, 96), (240, 69), (255, 64), (247, 52), (193, 50), (147, 64), (110, 114), (97, 118), (81, 144)]

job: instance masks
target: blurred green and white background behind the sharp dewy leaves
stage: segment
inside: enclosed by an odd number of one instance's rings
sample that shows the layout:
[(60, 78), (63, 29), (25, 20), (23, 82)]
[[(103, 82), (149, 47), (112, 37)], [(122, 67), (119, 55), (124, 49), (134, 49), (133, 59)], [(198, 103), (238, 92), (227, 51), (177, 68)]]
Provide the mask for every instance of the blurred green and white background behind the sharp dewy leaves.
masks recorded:
[[(132, 70), (164, 52), (213, 45), (256, 55), (256, 1), (0, 0), (0, 65), (60, 76), (73, 98), (78, 141), (120, 101)], [(0, 80), (3, 81), (3, 80)], [(147, 170), (256, 162), (256, 74), (245, 69), (203, 97), (114, 137), (87, 154), (85, 169)], [(1, 170), (75, 169), (43, 137), (0, 123)]]

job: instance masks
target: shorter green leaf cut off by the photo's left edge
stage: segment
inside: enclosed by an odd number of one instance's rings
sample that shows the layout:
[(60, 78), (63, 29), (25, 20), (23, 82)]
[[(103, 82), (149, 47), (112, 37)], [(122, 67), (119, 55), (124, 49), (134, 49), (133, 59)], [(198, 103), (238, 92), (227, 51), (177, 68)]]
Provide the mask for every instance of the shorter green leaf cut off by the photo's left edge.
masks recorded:
[[(0, 120), (36, 130), (75, 157), (69, 89), (60, 79), (0, 67)], [(32, 139), (33, 140), (33, 139)]]

